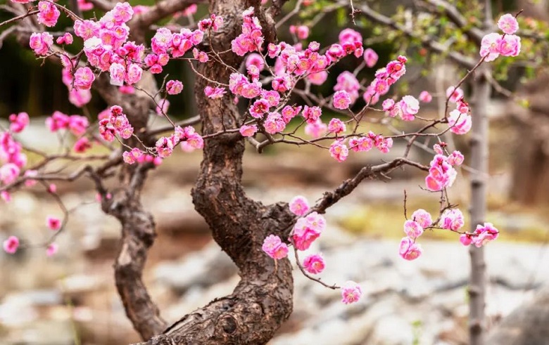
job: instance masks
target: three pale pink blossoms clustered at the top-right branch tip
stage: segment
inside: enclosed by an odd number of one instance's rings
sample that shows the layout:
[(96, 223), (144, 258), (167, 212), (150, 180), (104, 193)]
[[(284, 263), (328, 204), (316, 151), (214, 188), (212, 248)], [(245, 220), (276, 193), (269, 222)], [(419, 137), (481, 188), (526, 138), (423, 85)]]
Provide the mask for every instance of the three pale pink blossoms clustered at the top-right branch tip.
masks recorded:
[(498, 20), (498, 27), (504, 34), (493, 32), (482, 38), (480, 56), (484, 61), (493, 61), (498, 56), (518, 56), (520, 53), (520, 37), (515, 35), (519, 30), (517, 19), (510, 14), (502, 15)]

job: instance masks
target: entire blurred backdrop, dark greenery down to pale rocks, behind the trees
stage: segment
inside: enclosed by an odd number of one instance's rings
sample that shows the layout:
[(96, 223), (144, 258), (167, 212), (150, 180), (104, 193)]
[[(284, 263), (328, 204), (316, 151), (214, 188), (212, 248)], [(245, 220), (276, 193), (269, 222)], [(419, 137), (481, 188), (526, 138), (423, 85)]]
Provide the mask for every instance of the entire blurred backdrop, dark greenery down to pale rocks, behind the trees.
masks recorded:
[[(0, 0), (0, 4), (4, 2)], [(405, 2), (384, 1), (381, 10), (390, 13), (394, 6)], [(502, 11), (529, 6), (529, 1), (495, 2)], [(130, 3), (151, 5), (152, 1)], [(546, 19), (545, 1), (536, 3), (541, 7), (528, 15), (536, 13)], [(286, 11), (294, 4), (290, 1)], [(204, 13), (206, 8), (200, 6), (196, 18)], [(0, 10), (0, 22), (7, 18), (8, 13)], [(292, 41), (289, 25), (300, 20), (296, 17), (283, 25), (279, 39)], [(308, 39), (322, 46), (337, 41), (341, 29), (336, 27), (353, 26), (348, 22), (347, 10), (325, 14), (322, 23), (329, 25), (316, 25)], [(359, 23), (353, 28), (365, 38), (365, 47), (379, 54), (377, 65), (359, 74), (370, 83), (374, 71), (404, 53), (405, 46), (396, 40), (378, 39), (379, 33), (372, 26)], [(429, 57), (422, 51), (408, 53)], [(422, 116), (434, 117), (444, 91), (460, 79), (462, 71), (443, 60), (429, 67), (417, 61), (410, 59), (405, 79), (396, 91), (416, 97), (423, 90), (432, 93), (434, 101), (422, 107)], [(328, 81), (315, 91), (330, 95), (336, 77), (343, 70), (353, 71), (359, 63), (346, 58), (330, 70)], [(15, 39), (6, 39), (1, 46), (0, 65), (0, 122), (5, 124), (11, 113), (28, 112), (30, 128), (18, 135), (26, 146), (46, 152), (58, 150), (58, 137), (44, 126), (45, 117), (54, 110), (96, 117), (106, 107), (96, 93), (84, 110), (68, 103), (61, 68), (49, 62), (41, 66)], [(425, 73), (426, 68), (429, 73)], [(185, 85), (181, 95), (169, 98), (170, 114), (179, 119), (195, 115), (194, 77), (189, 67), (174, 61), (165, 72)], [(486, 221), (500, 229), (500, 237), (486, 247), (490, 276), (488, 327), (531, 301), (534, 292), (549, 282), (549, 107), (545, 96), (549, 79), (539, 76), (523, 85), (519, 82), (523, 74), (524, 70), (511, 70), (505, 86), (527, 98), (529, 108), (497, 94), (490, 103)], [(164, 75), (158, 77), (158, 82)], [(357, 107), (363, 104), (360, 99)], [(324, 112), (324, 122), (333, 116)], [(376, 133), (391, 133), (383, 126), (367, 126)], [(414, 126), (398, 124), (398, 129), (413, 130)], [(468, 138), (445, 138), (450, 148), (461, 150), (466, 157), (460, 176), (449, 190), (451, 200), (460, 204), (464, 213), (469, 203)], [(289, 202), (295, 195), (315, 202), (324, 191), (333, 190), (365, 164), (398, 157), (404, 148), (405, 143), (396, 141), (389, 154), (372, 151), (350, 155), (341, 164), (328, 152), (313, 147), (274, 145), (262, 155), (248, 150), (244, 185), (251, 197), (265, 203)], [(432, 157), (420, 148), (412, 155), (424, 164)], [(208, 226), (191, 202), (190, 190), (200, 161), (201, 152), (177, 151), (151, 172), (142, 195), (158, 232), (144, 279), (168, 322), (232, 292), (239, 280), (234, 264), (211, 240)], [(420, 238), (424, 248), (420, 259), (400, 259), (404, 190), (408, 193), (408, 212), (423, 208), (436, 214), (439, 205), (435, 195), (419, 187), (424, 184), (421, 171), (406, 168), (395, 171), (391, 178), (365, 181), (330, 208), (326, 214), (328, 229), (310, 249), (324, 254), (327, 268), (320, 275), (322, 280), (359, 282), (365, 292), (362, 301), (343, 305), (339, 292), (315, 284), (296, 271), (294, 314), (270, 344), (467, 344), (467, 248), (453, 233), (429, 231)], [(95, 202), (93, 185), (87, 180), (60, 183), (58, 192), (71, 209), (68, 225), (57, 240), (58, 254), (46, 257), (42, 248), (14, 255), (0, 253), (0, 344), (115, 345), (138, 341), (115, 292), (112, 265), (120, 236), (118, 221), (102, 213)], [(50, 235), (45, 223), (48, 215), (61, 216), (61, 211), (46, 193), (33, 188), (14, 193), (10, 203), (0, 202), (0, 240), (8, 235), (18, 235), (26, 242), (46, 239)]]

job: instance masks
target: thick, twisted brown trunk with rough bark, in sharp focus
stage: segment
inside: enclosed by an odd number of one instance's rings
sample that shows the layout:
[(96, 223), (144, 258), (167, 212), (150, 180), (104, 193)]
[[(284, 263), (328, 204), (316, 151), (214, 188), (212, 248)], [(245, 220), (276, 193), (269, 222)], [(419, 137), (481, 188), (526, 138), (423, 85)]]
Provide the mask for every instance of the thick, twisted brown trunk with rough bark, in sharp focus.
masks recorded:
[[(258, 13), (259, 1), (212, 1), (210, 13), (222, 15), (224, 26), (205, 41), (205, 49), (227, 51), (240, 31), (241, 13), (249, 6), (263, 18), (265, 36), (273, 37), (272, 20)], [(230, 67), (238, 67), (242, 58), (222, 53)], [(230, 96), (207, 98), (203, 89), (209, 80), (227, 83), (232, 68), (214, 59), (198, 66), (196, 102), (202, 118), (202, 132), (212, 134), (241, 126), (241, 115)], [(239, 268), (241, 280), (229, 296), (215, 299), (207, 306), (184, 316), (174, 325), (144, 344), (265, 344), (292, 311), (293, 278), (288, 259), (274, 260), (261, 245), (265, 237), (287, 237), (294, 222), (286, 204), (264, 206), (251, 200), (241, 185), (242, 136), (224, 134), (206, 141), (201, 171), (192, 190), (196, 210), (206, 219), (213, 239)], [(141, 335), (144, 334), (141, 332)]]

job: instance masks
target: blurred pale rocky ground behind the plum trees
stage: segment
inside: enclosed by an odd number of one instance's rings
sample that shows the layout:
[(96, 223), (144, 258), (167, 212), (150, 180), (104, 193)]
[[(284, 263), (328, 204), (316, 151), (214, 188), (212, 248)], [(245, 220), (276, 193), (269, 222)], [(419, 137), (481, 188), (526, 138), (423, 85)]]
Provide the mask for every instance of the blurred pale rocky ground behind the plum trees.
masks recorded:
[[(284, 159), (274, 153), (247, 155), (244, 183), (248, 193), (263, 202), (289, 201), (297, 194), (315, 200), (370, 162), (336, 165), (325, 158), (298, 151)], [(191, 154), (166, 162), (153, 173), (144, 193), (159, 233), (144, 278), (168, 321), (231, 292), (238, 281), (234, 265), (211, 241), (208, 227), (192, 207), (190, 183), (199, 160), (199, 154)], [(318, 167), (324, 171), (319, 173)], [(422, 238), (424, 255), (408, 262), (397, 254), (400, 235), (391, 235), (400, 231), (392, 228), (402, 226), (403, 188), (409, 202), (424, 195), (417, 188), (421, 181), (415, 178), (405, 171), (391, 183), (367, 181), (329, 209), (328, 230), (310, 249), (326, 259), (320, 277), (329, 283), (360, 282), (364, 298), (343, 305), (338, 292), (296, 270), (294, 314), (271, 345), (467, 344), (467, 249), (457, 238), (450, 242)], [(491, 179), (493, 199), (500, 199), (505, 181)], [(467, 196), (465, 182), (453, 189), (458, 199)], [(90, 183), (60, 185), (59, 190), (69, 208), (80, 206), (58, 237), (58, 254), (46, 258), (41, 248), (13, 256), (0, 253), (0, 344), (119, 345), (139, 340), (114, 289), (111, 266), (118, 223), (101, 213)], [(436, 207), (435, 199), (427, 202)], [(379, 204), (392, 206), (374, 208)], [(365, 209), (375, 211), (365, 213)], [(51, 235), (44, 223), (47, 214), (59, 214), (47, 195), (17, 193), (13, 202), (0, 205), (0, 236), (15, 234), (40, 242)], [(544, 233), (549, 231), (543, 217), (502, 211), (492, 216), (505, 224), (503, 231), (515, 232), (511, 238), (520, 239), (522, 229), (533, 223)], [(363, 224), (349, 228), (348, 219)], [(487, 313), (490, 325), (496, 325), (549, 283), (549, 250), (543, 243), (504, 238), (488, 245), (486, 256)]]

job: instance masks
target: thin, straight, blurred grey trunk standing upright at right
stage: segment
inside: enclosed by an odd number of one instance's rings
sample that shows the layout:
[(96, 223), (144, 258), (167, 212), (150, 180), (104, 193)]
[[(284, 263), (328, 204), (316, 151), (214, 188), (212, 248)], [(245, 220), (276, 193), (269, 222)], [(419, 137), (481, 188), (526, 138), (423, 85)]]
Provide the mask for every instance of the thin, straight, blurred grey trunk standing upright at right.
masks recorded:
[[(484, 1), (484, 29), (492, 25), (491, 1)], [(471, 138), (471, 232), (486, 217), (486, 181), (488, 176), (488, 102), (491, 86), (487, 76), (491, 68), (484, 63), (473, 82), (473, 125)], [(469, 277), (469, 341), (471, 345), (484, 344), (486, 331), (486, 261), (484, 247), (469, 247), (471, 274)]]

